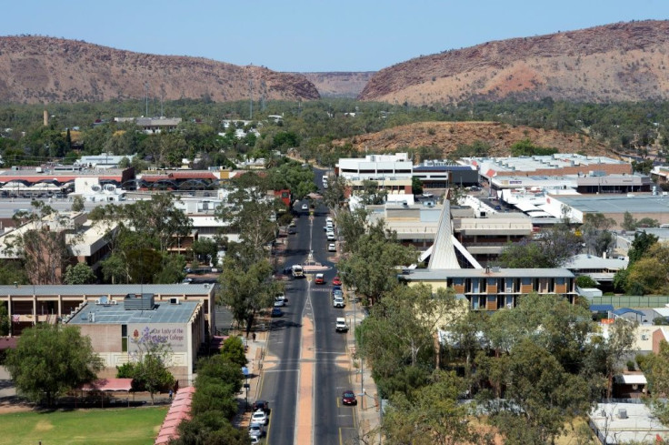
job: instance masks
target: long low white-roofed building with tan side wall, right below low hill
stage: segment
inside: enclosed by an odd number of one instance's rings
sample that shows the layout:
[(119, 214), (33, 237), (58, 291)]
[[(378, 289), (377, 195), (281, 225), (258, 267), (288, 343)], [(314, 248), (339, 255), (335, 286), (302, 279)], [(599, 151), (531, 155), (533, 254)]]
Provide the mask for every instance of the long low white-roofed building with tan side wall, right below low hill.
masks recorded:
[(531, 177), (632, 174), (632, 165), (611, 157), (589, 157), (583, 155), (555, 153), (550, 156), (532, 157), (464, 157), (463, 165), (474, 166), (485, 182), (493, 177)]

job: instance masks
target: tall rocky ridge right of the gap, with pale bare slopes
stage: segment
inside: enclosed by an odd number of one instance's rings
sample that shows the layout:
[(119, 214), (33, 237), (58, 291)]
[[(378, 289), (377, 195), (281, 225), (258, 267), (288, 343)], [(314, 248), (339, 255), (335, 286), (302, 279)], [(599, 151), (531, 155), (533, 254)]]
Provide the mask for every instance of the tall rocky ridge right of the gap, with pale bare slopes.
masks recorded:
[(488, 42), (384, 68), (364, 100), (414, 105), (546, 96), (609, 102), (669, 98), (669, 21)]

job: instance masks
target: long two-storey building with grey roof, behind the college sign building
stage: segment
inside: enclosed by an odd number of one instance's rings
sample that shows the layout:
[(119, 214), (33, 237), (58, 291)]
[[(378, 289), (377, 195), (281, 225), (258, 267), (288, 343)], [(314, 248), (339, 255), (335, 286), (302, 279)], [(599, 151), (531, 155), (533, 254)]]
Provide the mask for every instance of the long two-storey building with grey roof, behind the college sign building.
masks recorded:
[[(202, 303), (206, 329), (215, 334), (215, 285), (210, 284), (90, 284), (90, 285), (16, 285), (0, 286), (0, 302), (7, 304), (12, 320), (12, 335), (36, 323), (55, 323), (75, 314), (86, 303), (100, 298), (121, 303), (128, 294), (150, 293), (155, 303)], [(113, 303), (112, 303), (113, 304)]]

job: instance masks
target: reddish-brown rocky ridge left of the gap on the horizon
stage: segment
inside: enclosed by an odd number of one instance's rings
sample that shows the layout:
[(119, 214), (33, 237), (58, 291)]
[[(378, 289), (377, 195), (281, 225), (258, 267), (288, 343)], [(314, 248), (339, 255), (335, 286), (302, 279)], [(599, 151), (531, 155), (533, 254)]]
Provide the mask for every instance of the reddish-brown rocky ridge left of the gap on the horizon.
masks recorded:
[(155, 56), (37, 36), (0, 37), (0, 102), (92, 102), (150, 97), (174, 100), (316, 99), (305, 76), (199, 57)]

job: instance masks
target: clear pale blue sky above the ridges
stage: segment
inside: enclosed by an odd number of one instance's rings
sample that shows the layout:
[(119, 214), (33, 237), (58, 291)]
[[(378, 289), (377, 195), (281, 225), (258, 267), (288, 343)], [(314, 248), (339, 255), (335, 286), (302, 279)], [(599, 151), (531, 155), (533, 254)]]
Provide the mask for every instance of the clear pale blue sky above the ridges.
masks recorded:
[(12, 0), (2, 35), (49, 35), (277, 71), (375, 71), (491, 40), (669, 19), (667, 0)]

